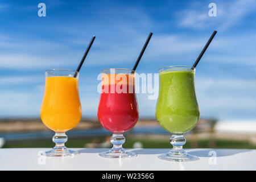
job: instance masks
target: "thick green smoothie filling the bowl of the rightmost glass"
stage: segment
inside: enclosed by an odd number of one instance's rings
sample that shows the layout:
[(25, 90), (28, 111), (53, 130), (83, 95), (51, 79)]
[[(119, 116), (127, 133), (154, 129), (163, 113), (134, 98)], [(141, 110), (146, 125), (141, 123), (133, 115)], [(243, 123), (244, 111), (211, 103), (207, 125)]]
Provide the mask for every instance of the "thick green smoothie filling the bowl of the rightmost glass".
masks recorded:
[(156, 119), (172, 134), (185, 133), (196, 126), (200, 109), (195, 93), (195, 71), (170, 68), (159, 73), (160, 89), (156, 105)]

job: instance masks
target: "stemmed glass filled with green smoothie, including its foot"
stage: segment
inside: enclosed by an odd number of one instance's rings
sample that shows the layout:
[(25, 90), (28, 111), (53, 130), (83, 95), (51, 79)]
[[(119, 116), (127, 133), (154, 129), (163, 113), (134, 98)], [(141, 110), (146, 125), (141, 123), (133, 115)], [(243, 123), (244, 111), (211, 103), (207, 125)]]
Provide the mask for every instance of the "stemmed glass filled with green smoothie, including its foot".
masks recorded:
[(171, 161), (198, 160), (183, 150), (186, 140), (183, 136), (196, 126), (200, 109), (195, 92), (195, 69), (187, 66), (168, 66), (159, 69), (159, 96), (156, 105), (156, 119), (164, 130), (172, 135), (173, 148), (158, 158)]

